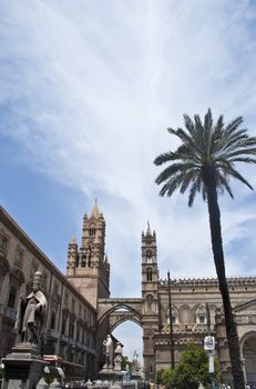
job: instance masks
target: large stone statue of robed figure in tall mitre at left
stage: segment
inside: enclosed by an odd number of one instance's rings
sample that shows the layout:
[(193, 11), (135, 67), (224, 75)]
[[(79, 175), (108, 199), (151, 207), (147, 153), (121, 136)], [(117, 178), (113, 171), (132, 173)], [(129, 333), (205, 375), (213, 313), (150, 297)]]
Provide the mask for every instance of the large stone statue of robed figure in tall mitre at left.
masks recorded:
[(42, 273), (37, 271), (33, 277), (32, 292), (25, 298), (21, 296), (16, 329), (20, 333), (22, 342), (40, 343), (40, 335), (48, 307), (45, 296), (40, 290), (41, 283)]

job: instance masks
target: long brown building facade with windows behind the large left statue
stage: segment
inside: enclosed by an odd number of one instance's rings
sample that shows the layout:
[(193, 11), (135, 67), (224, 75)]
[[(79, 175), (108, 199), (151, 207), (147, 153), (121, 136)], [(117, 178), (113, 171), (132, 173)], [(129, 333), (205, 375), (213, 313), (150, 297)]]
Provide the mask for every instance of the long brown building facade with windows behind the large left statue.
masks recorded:
[(14, 345), (21, 295), (31, 291), (33, 275), (43, 275), (48, 299), (44, 353), (96, 375), (96, 309), (72, 286), (17, 222), (0, 207), (0, 358)]

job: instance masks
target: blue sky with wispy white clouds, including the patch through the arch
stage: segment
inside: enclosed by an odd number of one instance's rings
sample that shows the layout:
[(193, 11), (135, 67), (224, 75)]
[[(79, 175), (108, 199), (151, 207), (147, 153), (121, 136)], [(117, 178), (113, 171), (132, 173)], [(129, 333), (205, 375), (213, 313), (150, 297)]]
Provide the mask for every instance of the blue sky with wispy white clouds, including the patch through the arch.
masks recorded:
[[(215, 277), (206, 205), (158, 197), (167, 127), (211, 107), (256, 136), (256, 2), (0, 0), (0, 203), (65, 272), (95, 198), (106, 221), (111, 296), (141, 296), (141, 233), (160, 277)], [(240, 171), (256, 187), (255, 167)], [(255, 192), (219, 198), (228, 277), (255, 276)], [(124, 272), (125, 269), (125, 272)], [(142, 330), (115, 330), (141, 358)], [(125, 347), (126, 341), (126, 347)], [(141, 346), (140, 346), (141, 345)]]

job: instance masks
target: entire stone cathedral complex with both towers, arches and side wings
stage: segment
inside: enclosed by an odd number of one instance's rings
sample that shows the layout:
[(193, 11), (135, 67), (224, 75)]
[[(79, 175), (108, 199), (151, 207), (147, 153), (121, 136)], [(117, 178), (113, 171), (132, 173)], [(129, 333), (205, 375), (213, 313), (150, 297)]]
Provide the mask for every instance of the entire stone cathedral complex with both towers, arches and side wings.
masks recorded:
[[(103, 363), (107, 333), (132, 320), (143, 331), (145, 379), (177, 363), (190, 342), (203, 347), (214, 335), (222, 379), (231, 381), (231, 361), (217, 279), (161, 279), (157, 241), (150, 225), (141, 238), (142, 293), (137, 298), (110, 298), (111, 265), (105, 255), (103, 215), (95, 203), (84, 215), (81, 241), (68, 247), (66, 273), (51, 262), (10, 215), (0, 208), (0, 357), (13, 346), (13, 326), (21, 293), (31, 288), (35, 270), (44, 277), (47, 315), (45, 358), (58, 356), (96, 377)], [(247, 382), (256, 381), (256, 278), (228, 279), (237, 323), (240, 356)], [(171, 330), (172, 329), (172, 330)]]

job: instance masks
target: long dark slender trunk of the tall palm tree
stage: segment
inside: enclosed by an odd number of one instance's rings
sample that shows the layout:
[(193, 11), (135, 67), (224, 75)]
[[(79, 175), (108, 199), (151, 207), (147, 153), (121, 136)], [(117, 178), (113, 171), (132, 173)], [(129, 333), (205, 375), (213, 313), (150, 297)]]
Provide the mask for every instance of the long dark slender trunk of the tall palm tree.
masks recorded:
[(204, 183), (207, 192), (209, 228), (215, 268), (218, 278), (219, 291), (223, 299), (226, 335), (229, 348), (229, 357), (233, 373), (234, 389), (244, 389), (244, 372), (240, 362), (239, 342), (231, 305), (229, 291), (225, 275), (225, 263), (222, 242), (221, 212), (217, 201), (216, 179), (214, 168), (208, 168), (204, 173)]

